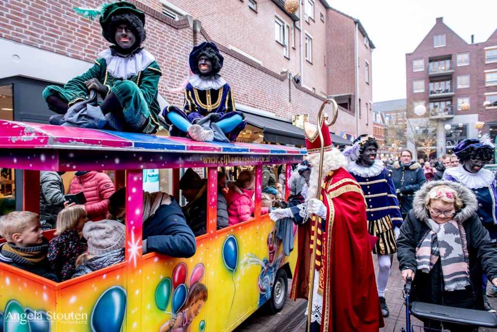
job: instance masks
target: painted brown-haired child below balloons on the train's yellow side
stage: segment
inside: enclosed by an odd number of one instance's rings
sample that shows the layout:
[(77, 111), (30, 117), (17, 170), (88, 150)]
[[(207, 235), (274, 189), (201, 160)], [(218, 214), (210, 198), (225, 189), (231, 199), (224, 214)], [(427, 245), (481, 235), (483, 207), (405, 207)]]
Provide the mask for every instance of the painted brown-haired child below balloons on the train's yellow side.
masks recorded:
[(207, 301), (207, 288), (204, 284), (195, 282), (190, 287), (186, 305), (181, 309), (181, 312), (164, 323), (159, 332), (190, 332), (191, 322), (198, 316), (205, 301)]

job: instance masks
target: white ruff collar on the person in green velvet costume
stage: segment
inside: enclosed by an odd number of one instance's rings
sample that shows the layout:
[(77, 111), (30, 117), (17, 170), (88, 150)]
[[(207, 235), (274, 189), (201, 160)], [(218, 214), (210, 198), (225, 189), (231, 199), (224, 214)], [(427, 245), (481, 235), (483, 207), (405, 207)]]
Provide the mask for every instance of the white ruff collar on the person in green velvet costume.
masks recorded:
[(108, 48), (98, 53), (100, 58), (105, 59), (107, 63), (107, 72), (118, 79), (128, 79), (147, 68), (155, 58), (150, 52), (141, 50), (133, 57), (122, 58), (117, 55), (112, 55), (112, 51)]

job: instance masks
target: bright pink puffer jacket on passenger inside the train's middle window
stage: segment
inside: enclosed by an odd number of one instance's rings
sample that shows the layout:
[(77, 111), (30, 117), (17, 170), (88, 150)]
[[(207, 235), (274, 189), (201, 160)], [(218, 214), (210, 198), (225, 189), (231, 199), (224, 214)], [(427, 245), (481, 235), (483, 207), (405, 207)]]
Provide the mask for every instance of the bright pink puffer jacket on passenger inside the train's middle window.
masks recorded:
[(239, 188), (235, 183), (229, 184), (229, 190), (226, 194), (226, 202), (228, 203), (229, 224), (235, 225), (243, 223), (250, 219), (254, 209), (252, 199), (253, 190)]

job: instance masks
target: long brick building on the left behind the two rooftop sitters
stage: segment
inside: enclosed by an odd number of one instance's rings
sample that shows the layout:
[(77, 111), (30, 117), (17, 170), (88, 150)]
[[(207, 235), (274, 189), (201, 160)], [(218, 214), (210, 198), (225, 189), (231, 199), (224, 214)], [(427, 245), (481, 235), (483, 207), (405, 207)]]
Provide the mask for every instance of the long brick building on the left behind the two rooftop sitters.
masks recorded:
[[(212, 41), (225, 56), (221, 74), (232, 86), (238, 109), (263, 119), (279, 119), (284, 127), (299, 114), (308, 114), (315, 122), (322, 102), (333, 96), (342, 106), (334, 132), (349, 138), (372, 133), (374, 45), (359, 20), (326, 1), (304, 0), (295, 14), (283, 9), (283, 0), (132, 2), (147, 15), (144, 46), (162, 69), (159, 91), (166, 102), (182, 104), (182, 94), (171, 89), (188, 75), (191, 48)], [(5, 96), (0, 98), (0, 118), (48, 119), (43, 88), (80, 75), (108, 46), (98, 22), (73, 10), (99, 4), (100, 0), (0, 3), (4, 50), (0, 94)], [(297, 73), (300, 85), (292, 79)], [(266, 135), (264, 128), (251, 128), (252, 134), (259, 130), (256, 136)]]

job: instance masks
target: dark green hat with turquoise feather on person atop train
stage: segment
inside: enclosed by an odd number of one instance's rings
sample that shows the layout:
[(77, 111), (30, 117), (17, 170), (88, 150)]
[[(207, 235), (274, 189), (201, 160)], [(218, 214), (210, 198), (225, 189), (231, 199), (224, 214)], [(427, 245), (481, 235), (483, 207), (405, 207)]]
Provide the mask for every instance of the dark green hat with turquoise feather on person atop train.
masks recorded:
[(90, 20), (93, 20), (97, 16), (100, 16), (98, 19), (100, 25), (102, 26), (102, 35), (105, 36), (105, 31), (107, 31), (107, 27), (110, 24), (110, 18), (114, 15), (120, 15), (125, 13), (131, 13), (136, 15), (140, 21), (142, 21), (145, 26), (145, 13), (143, 11), (138, 10), (136, 5), (128, 1), (118, 1), (113, 3), (102, 3), (98, 8), (78, 8), (75, 7), (76, 13), (79, 15), (86, 17)]

